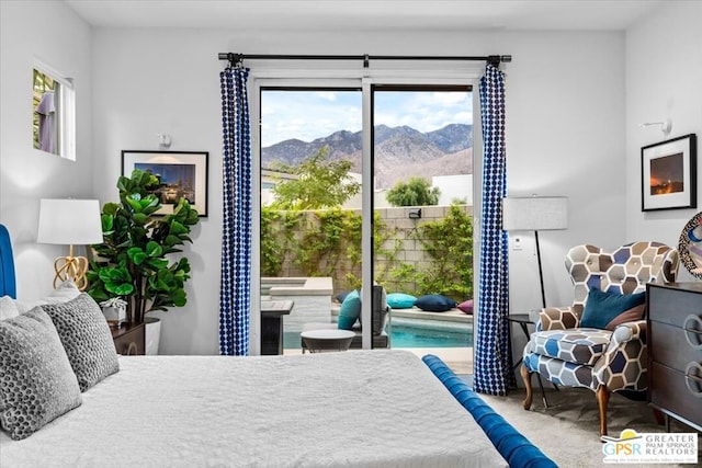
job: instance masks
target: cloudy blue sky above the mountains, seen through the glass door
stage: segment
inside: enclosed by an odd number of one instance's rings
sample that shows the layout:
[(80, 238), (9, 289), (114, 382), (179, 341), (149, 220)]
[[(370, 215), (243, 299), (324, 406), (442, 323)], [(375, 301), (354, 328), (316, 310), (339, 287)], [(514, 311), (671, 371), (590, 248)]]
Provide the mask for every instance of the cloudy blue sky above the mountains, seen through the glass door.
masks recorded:
[[(261, 96), (261, 138), (268, 147), (286, 139), (312, 141), (338, 130), (361, 130), (361, 91), (274, 91)], [(375, 125), (432, 132), (473, 123), (469, 92), (375, 92)]]

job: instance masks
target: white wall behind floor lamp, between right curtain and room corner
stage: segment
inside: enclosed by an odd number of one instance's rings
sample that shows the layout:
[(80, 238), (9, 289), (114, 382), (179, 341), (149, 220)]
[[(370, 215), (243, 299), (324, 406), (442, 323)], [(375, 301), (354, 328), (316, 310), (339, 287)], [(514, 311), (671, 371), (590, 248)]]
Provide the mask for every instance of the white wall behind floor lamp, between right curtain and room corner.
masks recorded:
[[(624, 35), (541, 33), (500, 36), (506, 67), (509, 196), (568, 197), (568, 229), (540, 232), (546, 304), (568, 305), (564, 267), (576, 244), (624, 239)], [(533, 232), (510, 232), (510, 308), (541, 308)]]

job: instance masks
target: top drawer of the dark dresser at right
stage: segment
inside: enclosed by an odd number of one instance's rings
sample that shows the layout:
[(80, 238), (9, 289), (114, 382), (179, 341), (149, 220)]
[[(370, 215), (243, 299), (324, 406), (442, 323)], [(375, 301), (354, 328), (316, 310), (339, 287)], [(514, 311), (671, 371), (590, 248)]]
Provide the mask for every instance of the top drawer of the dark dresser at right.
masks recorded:
[(697, 292), (648, 286), (648, 318), (657, 322), (682, 327), (690, 315), (702, 318), (701, 303), (702, 294)]

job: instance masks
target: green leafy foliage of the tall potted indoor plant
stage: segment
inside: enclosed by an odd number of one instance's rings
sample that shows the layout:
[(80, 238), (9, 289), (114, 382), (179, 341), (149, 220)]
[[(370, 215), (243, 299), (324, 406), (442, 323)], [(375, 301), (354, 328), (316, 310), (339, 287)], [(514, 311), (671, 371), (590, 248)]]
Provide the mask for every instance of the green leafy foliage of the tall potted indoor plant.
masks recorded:
[(200, 218), (185, 198), (178, 201), (172, 214), (157, 216), (162, 205), (154, 191), (159, 184), (156, 175), (138, 169), (129, 178), (120, 176), (120, 203), (102, 208), (103, 242), (93, 246), (98, 258), (88, 271), (88, 293), (97, 301), (122, 297), (134, 322), (143, 321), (150, 310), (182, 307), (188, 300), (188, 258), (169, 255), (192, 242), (190, 232)]

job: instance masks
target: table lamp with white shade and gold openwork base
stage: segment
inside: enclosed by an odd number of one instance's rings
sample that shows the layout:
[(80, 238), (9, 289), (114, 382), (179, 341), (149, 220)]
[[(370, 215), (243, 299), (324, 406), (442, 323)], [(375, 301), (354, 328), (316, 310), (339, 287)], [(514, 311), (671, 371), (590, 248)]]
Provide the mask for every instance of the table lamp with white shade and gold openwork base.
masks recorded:
[(69, 246), (68, 256), (54, 261), (54, 288), (72, 279), (78, 289), (88, 287), (88, 259), (73, 256), (73, 246), (102, 242), (100, 202), (97, 199), (42, 198), (37, 242)]

